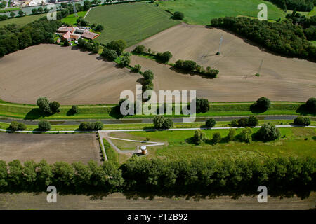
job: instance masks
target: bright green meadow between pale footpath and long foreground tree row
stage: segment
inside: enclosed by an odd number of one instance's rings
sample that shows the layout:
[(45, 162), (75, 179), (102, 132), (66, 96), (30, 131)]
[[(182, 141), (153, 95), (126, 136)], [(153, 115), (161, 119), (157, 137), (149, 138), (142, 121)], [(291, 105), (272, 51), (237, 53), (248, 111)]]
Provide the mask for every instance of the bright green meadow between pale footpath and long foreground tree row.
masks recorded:
[[(258, 129), (253, 129), (256, 132)], [(279, 129), (281, 138), (276, 141), (252, 141), (246, 144), (239, 141), (222, 141), (219, 144), (201, 144), (196, 146), (190, 143), (195, 131), (169, 132), (126, 132), (126, 139), (164, 142), (166, 146), (148, 147), (149, 158), (167, 158), (169, 160), (202, 157), (208, 158), (274, 158), (278, 156), (310, 156), (316, 158), (316, 129), (307, 127), (282, 127)], [(220, 132), (222, 137), (228, 130), (204, 130), (207, 138), (214, 132)], [(241, 130), (237, 130), (239, 134)], [(121, 133), (111, 133), (111, 137), (120, 137)], [(285, 137), (284, 137), (285, 136)]]

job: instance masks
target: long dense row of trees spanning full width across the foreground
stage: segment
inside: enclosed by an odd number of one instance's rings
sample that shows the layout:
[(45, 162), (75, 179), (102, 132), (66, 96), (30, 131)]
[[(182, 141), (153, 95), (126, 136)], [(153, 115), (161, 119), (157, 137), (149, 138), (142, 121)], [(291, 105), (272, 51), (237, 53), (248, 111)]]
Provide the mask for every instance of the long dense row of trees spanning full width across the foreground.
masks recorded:
[(257, 193), (267, 186), (272, 193), (309, 193), (316, 190), (315, 158), (278, 157), (160, 160), (133, 156), (121, 166), (112, 162), (55, 162), (50, 165), (0, 160), (0, 189), (58, 192), (143, 193)]

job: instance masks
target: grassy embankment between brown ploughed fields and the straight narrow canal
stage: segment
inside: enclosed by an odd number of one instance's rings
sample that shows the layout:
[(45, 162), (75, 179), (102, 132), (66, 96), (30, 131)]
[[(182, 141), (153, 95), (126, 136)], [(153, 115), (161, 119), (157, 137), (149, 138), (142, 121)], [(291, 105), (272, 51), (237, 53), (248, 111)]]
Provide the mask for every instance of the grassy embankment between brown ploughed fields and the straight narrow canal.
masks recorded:
[[(263, 113), (251, 111), (250, 106), (253, 102), (223, 102), (211, 103), (210, 109), (206, 113), (198, 113), (197, 117), (209, 116), (250, 116), (250, 115), (309, 115), (300, 109), (303, 103), (299, 102), (272, 102), (270, 109)], [(120, 118), (114, 105), (84, 105), (79, 106), (79, 113), (72, 115), (72, 106), (61, 106), (60, 113), (51, 116), (43, 115), (37, 106), (30, 104), (13, 104), (0, 101), (0, 116), (8, 118), (20, 118), (25, 120), (72, 120), (72, 119), (107, 119)], [(170, 117), (183, 117), (182, 115)], [(310, 115), (312, 116), (312, 115)], [(153, 116), (135, 115), (125, 118), (152, 118)]]

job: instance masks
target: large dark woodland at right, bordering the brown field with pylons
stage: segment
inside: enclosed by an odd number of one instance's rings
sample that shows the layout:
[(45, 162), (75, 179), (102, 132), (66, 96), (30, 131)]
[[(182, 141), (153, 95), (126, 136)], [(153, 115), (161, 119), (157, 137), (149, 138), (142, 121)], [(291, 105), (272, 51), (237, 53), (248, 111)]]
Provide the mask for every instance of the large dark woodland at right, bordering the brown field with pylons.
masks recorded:
[(268, 22), (251, 18), (225, 17), (211, 20), (213, 27), (234, 31), (279, 54), (316, 59), (316, 48), (307, 40), (301, 26), (291, 20)]

